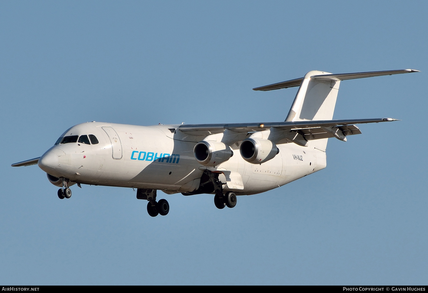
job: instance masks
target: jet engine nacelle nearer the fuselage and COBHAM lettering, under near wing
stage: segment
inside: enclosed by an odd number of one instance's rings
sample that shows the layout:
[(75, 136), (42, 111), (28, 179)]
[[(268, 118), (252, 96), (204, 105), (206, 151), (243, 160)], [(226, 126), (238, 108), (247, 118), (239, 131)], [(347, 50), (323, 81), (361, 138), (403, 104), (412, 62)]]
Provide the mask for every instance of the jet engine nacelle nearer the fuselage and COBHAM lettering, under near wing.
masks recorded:
[(193, 148), (193, 155), (199, 164), (214, 167), (229, 160), (233, 152), (229, 146), (221, 142), (199, 141)]

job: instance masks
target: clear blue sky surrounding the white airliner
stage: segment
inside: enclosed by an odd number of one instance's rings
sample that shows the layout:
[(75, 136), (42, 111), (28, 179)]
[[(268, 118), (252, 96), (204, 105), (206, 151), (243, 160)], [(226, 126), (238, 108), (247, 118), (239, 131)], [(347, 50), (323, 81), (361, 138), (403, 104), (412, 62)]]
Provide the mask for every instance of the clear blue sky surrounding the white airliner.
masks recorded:
[[(394, 1), (0, 2), (0, 283), (426, 284), (428, 4)], [(37, 166), (78, 123), (283, 121), (334, 73), (335, 119), (393, 117), (330, 139), (327, 168), (219, 210), (212, 195), (73, 186)]]

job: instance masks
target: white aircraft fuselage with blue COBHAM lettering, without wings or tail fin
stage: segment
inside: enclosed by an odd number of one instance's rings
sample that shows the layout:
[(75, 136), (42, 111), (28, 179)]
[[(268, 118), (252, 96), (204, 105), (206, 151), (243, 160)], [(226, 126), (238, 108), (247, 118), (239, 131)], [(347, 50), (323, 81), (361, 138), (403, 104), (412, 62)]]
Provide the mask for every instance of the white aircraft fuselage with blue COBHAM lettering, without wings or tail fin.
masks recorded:
[(226, 184), (237, 195), (256, 194), (287, 184), (326, 166), (325, 152), (293, 143), (277, 144), (279, 153), (262, 164), (245, 161), (240, 141), (230, 145), (233, 155), (214, 167), (196, 161), (193, 147), (205, 136), (187, 135), (178, 125), (134, 126), (90, 122), (68, 129), (61, 137), (93, 135), (98, 144), (58, 143), (39, 159), (39, 167), (58, 178), (80, 184), (159, 189), (168, 194), (192, 192), (204, 170), (238, 172), (244, 189)]

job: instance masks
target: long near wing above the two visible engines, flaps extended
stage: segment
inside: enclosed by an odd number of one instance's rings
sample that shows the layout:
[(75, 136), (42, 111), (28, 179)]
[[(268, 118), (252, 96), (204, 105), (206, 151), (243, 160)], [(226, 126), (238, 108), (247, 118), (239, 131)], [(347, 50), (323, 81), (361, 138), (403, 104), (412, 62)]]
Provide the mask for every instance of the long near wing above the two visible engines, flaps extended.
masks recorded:
[[(322, 127), (334, 127), (347, 132), (346, 135), (357, 134), (352, 133), (355, 127), (354, 124), (362, 123), (379, 123), (388, 121), (397, 121), (393, 118), (373, 118), (373, 119), (354, 119), (354, 120), (318, 120), (318, 121), (287, 121), (287, 122), (265, 122), (265, 123), (230, 123), (230, 124), (182, 124), (178, 130), (188, 135), (211, 135), (224, 132), (226, 129), (234, 132), (257, 132), (268, 130), (271, 127), (282, 130), (302, 130), (304, 129), (322, 129)], [(350, 128), (351, 127), (351, 128)], [(306, 130), (309, 132), (309, 130)], [(359, 130), (358, 130), (359, 132)], [(310, 133), (310, 132), (309, 132)], [(308, 134), (309, 134), (308, 133)], [(361, 132), (360, 132), (361, 133)], [(360, 134), (358, 133), (358, 134)], [(332, 137), (332, 136), (329, 136)], [(321, 137), (319, 137), (321, 138)], [(318, 139), (318, 138), (317, 138)]]

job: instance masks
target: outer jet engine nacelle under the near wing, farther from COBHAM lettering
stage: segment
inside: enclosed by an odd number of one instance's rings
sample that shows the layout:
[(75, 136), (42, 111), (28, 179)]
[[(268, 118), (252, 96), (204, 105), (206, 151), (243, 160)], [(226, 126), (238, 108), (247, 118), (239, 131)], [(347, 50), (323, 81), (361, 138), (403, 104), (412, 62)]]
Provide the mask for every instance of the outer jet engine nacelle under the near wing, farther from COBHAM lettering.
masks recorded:
[(247, 138), (239, 147), (242, 158), (251, 164), (262, 164), (279, 153), (279, 149), (268, 139)]

